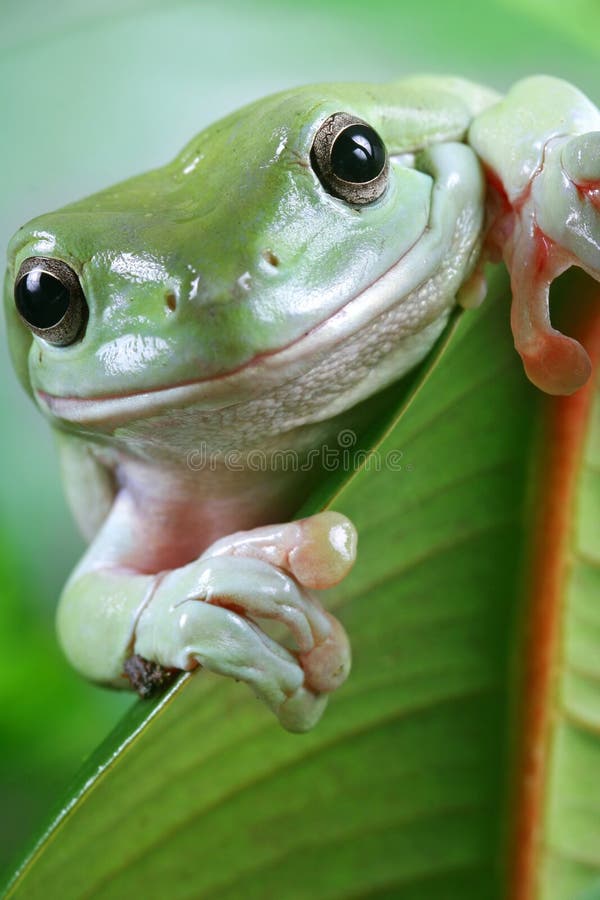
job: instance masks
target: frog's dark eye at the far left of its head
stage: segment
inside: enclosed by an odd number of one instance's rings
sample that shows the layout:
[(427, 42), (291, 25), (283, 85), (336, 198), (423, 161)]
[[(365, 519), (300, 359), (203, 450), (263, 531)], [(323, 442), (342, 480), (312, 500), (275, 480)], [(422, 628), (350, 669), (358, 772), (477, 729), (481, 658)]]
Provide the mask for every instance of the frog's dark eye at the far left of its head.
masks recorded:
[(61, 259), (30, 256), (15, 281), (15, 305), (25, 324), (58, 347), (83, 335), (86, 303), (79, 278)]

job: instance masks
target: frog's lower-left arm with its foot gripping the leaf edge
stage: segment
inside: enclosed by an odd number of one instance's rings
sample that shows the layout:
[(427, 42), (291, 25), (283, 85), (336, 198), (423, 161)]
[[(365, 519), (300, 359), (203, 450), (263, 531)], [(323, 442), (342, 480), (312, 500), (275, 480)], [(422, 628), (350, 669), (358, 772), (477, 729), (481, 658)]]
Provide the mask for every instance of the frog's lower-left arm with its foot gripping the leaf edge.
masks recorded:
[[(322, 513), (240, 532), (158, 574), (136, 569), (136, 530), (135, 504), (122, 490), (60, 600), (58, 633), (71, 663), (122, 687), (133, 655), (166, 668), (201, 665), (247, 682), (286, 728), (312, 727), (350, 669), (345, 632), (311, 593), (352, 565), (350, 522)], [(248, 617), (284, 623), (296, 649)]]

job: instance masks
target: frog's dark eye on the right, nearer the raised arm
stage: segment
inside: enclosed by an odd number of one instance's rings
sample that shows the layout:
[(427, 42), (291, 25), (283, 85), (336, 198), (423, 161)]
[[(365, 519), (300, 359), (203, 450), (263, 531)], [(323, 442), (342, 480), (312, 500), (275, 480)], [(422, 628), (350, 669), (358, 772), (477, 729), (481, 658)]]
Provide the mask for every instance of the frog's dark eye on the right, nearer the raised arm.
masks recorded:
[(310, 160), (325, 190), (358, 206), (377, 200), (389, 173), (385, 144), (367, 122), (334, 113), (317, 131)]

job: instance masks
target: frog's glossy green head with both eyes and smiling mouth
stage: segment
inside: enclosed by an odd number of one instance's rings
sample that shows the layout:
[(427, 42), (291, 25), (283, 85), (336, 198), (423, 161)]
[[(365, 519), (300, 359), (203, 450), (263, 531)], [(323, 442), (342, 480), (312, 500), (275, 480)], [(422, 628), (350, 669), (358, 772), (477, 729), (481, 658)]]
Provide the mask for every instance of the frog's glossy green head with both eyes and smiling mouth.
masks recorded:
[(414, 365), (481, 230), (460, 94), (427, 81), (287, 91), (21, 228), (10, 343), (45, 412), (106, 430), (329, 366), (318, 418)]

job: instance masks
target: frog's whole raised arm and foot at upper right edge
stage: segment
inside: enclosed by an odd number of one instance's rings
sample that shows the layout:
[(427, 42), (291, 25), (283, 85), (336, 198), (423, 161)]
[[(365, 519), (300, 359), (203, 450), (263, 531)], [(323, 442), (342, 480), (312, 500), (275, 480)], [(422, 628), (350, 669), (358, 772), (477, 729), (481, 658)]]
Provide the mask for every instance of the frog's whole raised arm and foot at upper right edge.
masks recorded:
[(490, 186), (487, 247), (511, 274), (511, 324), (529, 378), (570, 394), (583, 347), (550, 323), (549, 289), (570, 266), (600, 280), (600, 112), (577, 88), (536, 76), (476, 116), (469, 143)]

